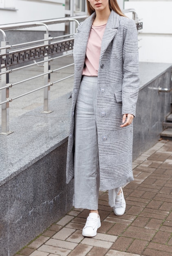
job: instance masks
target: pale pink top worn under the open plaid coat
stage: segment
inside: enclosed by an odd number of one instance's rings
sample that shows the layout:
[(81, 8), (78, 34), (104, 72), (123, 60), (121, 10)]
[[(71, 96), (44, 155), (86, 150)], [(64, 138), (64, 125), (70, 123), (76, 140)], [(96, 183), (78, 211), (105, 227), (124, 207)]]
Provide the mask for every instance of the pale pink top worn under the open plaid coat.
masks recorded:
[(106, 24), (98, 27), (91, 27), (86, 48), (85, 67), (82, 72), (83, 75), (97, 76), (98, 74), (101, 40), (103, 38), (105, 28)]

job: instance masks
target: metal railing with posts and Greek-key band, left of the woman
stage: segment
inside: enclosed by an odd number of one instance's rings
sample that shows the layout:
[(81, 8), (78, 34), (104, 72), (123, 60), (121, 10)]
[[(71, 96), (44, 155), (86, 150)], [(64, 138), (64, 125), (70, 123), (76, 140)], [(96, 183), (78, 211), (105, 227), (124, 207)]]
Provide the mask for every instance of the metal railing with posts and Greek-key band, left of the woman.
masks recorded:
[[(79, 17), (79, 20), (84, 20), (86, 16)], [(72, 77), (74, 74), (70, 76), (66, 76), (57, 81), (50, 81), (50, 74), (53, 72), (57, 72), (58, 70), (62, 70), (63, 68), (68, 68), (72, 65), (65, 65), (63, 67), (59, 67), (57, 69), (50, 69), (50, 62), (57, 58), (62, 58), (64, 56), (71, 55), (73, 52), (73, 39), (74, 34), (68, 34), (63, 36), (57, 36), (55, 38), (51, 37), (49, 34), (48, 25), (62, 23), (62, 22), (76, 22), (78, 25), (79, 21), (72, 17), (62, 18), (62, 19), (53, 19), (53, 20), (42, 20), (42, 21), (34, 21), (34, 22), (21, 22), (15, 24), (6, 24), (0, 25), (0, 31), (4, 36), (4, 41), (1, 42), (0, 45), (0, 75), (1, 75), (1, 85), (0, 91), (2, 92), (2, 100), (0, 102), (0, 106), (2, 108), (2, 135), (9, 135), (11, 131), (9, 131), (9, 102), (18, 99), (20, 97), (26, 96), (38, 90), (44, 89), (44, 111), (43, 113), (50, 113), (52, 111), (48, 108), (48, 100), (49, 100), (49, 91), (50, 86), (55, 83), (59, 83), (65, 79)], [(6, 40), (6, 35), (4, 31), (13, 30), (13, 29), (23, 29), (28, 27), (37, 27), (37, 26), (45, 26), (46, 34), (44, 34), (44, 39), (35, 40), (31, 42), (19, 43), (14, 45), (9, 45), (9, 42)], [(15, 49), (14, 47), (18, 47)], [(68, 52), (69, 51), (69, 52)], [(55, 54), (59, 54), (60, 56), (53, 56)], [(63, 53), (63, 54), (62, 54)], [(64, 54), (65, 53), (65, 54)], [(52, 57), (53, 56), (53, 57)], [(36, 61), (39, 58), (44, 58), (42, 61)], [(27, 61), (34, 61), (33, 63), (29, 63), (26, 65)], [(20, 67), (15, 67), (16, 64), (22, 64)], [(22, 79), (21, 81), (16, 81), (15, 83), (9, 82), (9, 74), (11, 72), (31, 67), (33, 65), (43, 64), (44, 71), (41, 74), (36, 76), (29, 77), (27, 79)], [(10, 69), (9, 69), (10, 67)], [(15, 97), (9, 98), (9, 88), (14, 85), (19, 85), (26, 81), (30, 81), (36, 78), (44, 77), (44, 85), (26, 92), (24, 94), (17, 95)]]

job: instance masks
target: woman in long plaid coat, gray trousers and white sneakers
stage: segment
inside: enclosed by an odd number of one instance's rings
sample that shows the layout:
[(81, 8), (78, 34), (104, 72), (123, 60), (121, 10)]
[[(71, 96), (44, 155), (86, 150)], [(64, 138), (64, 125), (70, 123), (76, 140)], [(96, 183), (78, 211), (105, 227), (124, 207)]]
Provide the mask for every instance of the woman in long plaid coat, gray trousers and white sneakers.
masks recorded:
[(92, 237), (101, 226), (98, 194), (108, 190), (109, 205), (123, 215), (122, 186), (133, 180), (132, 120), (139, 91), (135, 22), (116, 0), (87, 0), (89, 17), (74, 43), (74, 88), (66, 182), (74, 177), (75, 208), (89, 209), (82, 230)]

